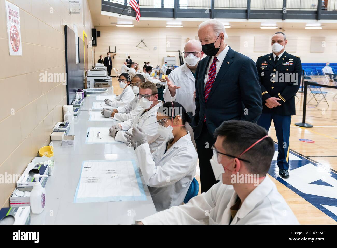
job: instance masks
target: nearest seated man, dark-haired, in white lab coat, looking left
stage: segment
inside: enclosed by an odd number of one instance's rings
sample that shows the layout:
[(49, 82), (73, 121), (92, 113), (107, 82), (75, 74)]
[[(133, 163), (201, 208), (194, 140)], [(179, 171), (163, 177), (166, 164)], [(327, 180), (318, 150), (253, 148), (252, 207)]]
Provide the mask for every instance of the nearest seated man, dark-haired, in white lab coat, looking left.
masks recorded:
[(267, 135), (266, 129), (249, 121), (224, 121), (214, 131), (211, 159), (220, 182), (187, 204), (139, 224), (299, 224), (267, 176), (274, 156), (274, 142)]

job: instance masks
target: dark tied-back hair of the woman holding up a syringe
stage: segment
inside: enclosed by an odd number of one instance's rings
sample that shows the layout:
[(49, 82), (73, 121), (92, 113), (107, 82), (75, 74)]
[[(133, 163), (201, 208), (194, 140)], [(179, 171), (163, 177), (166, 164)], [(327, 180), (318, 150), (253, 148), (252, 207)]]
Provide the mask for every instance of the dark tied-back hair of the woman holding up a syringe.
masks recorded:
[[(185, 124), (185, 122), (191, 122), (193, 119), (192, 112), (186, 112), (184, 106), (178, 102), (166, 102), (159, 107), (158, 112), (168, 117), (180, 115), (183, 124)], [(185, 126), (182, 127), (185, 128)]]

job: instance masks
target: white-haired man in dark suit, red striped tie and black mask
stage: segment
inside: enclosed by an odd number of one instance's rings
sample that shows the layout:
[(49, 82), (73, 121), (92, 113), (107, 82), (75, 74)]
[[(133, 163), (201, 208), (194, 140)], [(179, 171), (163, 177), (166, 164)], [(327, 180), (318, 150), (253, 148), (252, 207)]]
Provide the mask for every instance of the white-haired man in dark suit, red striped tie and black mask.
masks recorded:
[(191, 127), (199, 158), (201, 192), (206, 192), (217, 183), (210, 164), (214, 130), (225, 120), (256, 122), (262, 113), (262, 98), (254, 61), (224, 43), (221, 22), (203, 22), (198, 37), (208, 56), (198, 63), (196, 71), (196, 110)]

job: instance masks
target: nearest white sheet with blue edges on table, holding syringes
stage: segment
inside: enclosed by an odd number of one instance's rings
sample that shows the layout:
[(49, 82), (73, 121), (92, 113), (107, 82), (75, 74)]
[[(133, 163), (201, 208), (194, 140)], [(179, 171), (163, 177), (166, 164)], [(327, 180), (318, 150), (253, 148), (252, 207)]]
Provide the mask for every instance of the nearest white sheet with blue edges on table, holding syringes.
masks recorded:
[(120, 200), (146, 200), (134, 161), (83, 161), (74, 202)]

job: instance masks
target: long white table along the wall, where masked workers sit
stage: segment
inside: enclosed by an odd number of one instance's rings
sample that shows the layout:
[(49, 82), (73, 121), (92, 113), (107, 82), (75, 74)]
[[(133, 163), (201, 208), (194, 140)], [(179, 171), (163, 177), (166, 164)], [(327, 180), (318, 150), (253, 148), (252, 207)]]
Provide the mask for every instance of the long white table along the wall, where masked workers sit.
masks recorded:
[[(111, 87), (109, 93), (111, 95)], [(110, 201), (73, 203), (84, 160), (136, 159), (134, 150), (126, 144), (85, 144), (88, 127), (111, 127), (119, 123), (111, 121), (89, 121), (89, 112), (96, 95), (84, 99), (78, 118), (70, 125), (69, 135), (75, 135), (74, 146), (62, 146), (53, 141), (55, 171), (48, 178), (46, 206), (41, 214), (31, 214), (32, 224), (133, 224), (136, 219), (156, 213), (147, 185), (140, 172), (146, 201)], [(137, 164), (138, 166), (138, 164)]]

